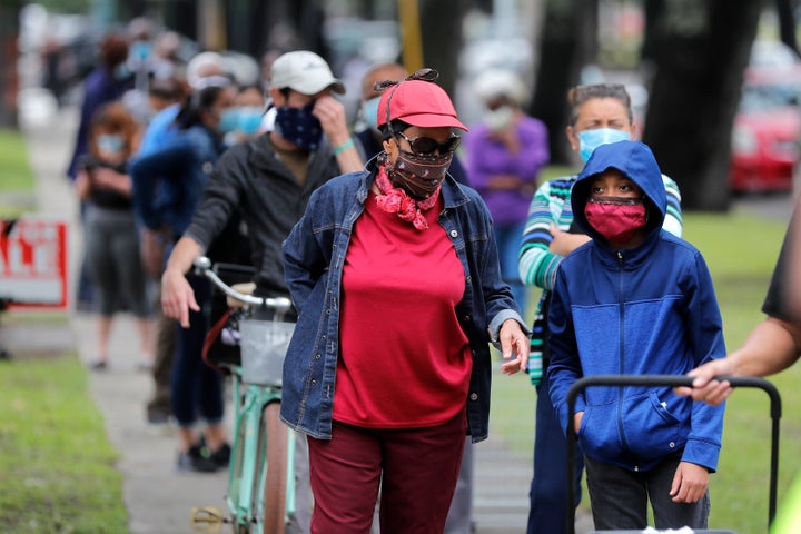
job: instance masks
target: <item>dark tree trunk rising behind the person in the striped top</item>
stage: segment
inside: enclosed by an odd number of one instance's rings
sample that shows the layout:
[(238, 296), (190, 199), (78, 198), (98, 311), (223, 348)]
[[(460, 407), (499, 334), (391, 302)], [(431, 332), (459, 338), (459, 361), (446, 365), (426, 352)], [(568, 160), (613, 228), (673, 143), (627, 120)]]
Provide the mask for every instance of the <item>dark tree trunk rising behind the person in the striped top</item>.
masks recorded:
[(530, 112), (548, 129), (551, 162), (572, 162), (565, 137), (570, 108), (567, 90), (578, 82), (581, 67), (591, 60), (589, 51), (595, 42), (595, 30), (585, 23), (596, 2), (547, 0), (540, 38), (540, 63), (535, 76), (534, 98)]

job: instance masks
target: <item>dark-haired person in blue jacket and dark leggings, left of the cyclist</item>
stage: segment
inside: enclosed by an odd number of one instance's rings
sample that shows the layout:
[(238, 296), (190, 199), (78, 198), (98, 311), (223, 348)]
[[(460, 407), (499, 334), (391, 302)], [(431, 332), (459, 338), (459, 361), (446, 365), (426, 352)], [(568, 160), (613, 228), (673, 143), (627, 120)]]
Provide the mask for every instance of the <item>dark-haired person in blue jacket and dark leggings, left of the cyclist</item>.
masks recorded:
[[(145, 225), (167, 236), (175, 244), (189, 226), (200, 195), (214, 166), (225, 150), (222, 137), (226, 111), (234, 107), (236, 87), (230, 79), (209, 80), (194, 91), (176, 117), (177, 137), (147, 156), (134, 160), (135, 202)], [(162, 182), (170, 195), (156, 192)], [(209, 256), (215, 253), (209, 251)], [(206, 303), (210, 296), (208, 283), (188, 277), (198, 296)], [(178, 422), (178, 468), (211, 472), (228, 463), (230, 447), (222, 427), (222, 384), (219, 373), (204, 364), (201, 349), (208, 328), (202, 310), (192, 313), (189, 328), (178, 329), (178, 350), (170, 377), (172, 414)], [(198, 400), (199, 399), (199, 400)], [(194, 431), (198, 413), (206, 419), (205, 442), (210, 456), (201, 453)]]

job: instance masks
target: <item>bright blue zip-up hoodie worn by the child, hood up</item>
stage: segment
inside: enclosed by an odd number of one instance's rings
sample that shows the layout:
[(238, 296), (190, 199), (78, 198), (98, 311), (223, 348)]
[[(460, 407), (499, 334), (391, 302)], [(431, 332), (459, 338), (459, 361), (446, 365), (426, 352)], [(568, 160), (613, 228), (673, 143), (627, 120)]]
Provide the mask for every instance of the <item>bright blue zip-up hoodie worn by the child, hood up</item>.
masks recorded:
[[(584, 215), (592, 179), (617, 169), (644, 192), (646, 237), (634, 248), (606, 245)], [(661, 229), (666, 198), (647, 146), (595, 149), (571, 195), (577, 224), (593, 240), (560, 266), (548, 314), (551, 399), (563, 429), (575, 380), (599, 374), (683, 375), (725, 356), (720, 309), (706, 264), (692, 245)], [(593, 386), (577, 397), (582, 452), (600, 462), (649, 471), (666, 456), (714, 472), (723, 406), (693, 403), (670, 387)], [(573, 417), (570, 417), (573, 421)]]

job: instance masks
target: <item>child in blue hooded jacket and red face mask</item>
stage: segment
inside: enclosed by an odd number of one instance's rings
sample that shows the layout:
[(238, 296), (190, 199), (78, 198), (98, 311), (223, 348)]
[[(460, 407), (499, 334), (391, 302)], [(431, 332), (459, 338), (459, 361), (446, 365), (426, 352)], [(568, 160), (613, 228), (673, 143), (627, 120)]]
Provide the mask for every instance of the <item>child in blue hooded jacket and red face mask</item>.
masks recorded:
[(670, 387), (590, 387), (568, 418), (566, 397), (582, 376), (684, 375), (725, 356), (706, 264), (661, 229), (662, 174), (642, 142), (595, 149), (571, 202), (593, 240), (557, 273), (550, 394), (563, 426), (576, 429), (595, 528), (644, 528), (649, 500), (656, 528), (705, 528), (723, 406), (694, 404)]

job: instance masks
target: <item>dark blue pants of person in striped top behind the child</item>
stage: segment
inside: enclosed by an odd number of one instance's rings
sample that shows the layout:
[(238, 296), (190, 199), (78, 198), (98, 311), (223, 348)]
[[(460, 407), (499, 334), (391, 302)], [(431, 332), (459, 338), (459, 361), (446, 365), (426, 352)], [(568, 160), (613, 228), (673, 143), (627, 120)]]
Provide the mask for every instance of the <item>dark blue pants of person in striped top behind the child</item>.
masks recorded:
[[(567, 516), (567, 442), (558, 422), (551, 396), (547, 374), (536, 387), (536, 426), (534, 428), (534, 477), (532, 478), (531, 508), (527, 534), (566, 532)], [(584, 463), (581, 452), (575, 458), (574, 506), (581, 502), (581, 477)]]

